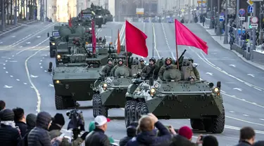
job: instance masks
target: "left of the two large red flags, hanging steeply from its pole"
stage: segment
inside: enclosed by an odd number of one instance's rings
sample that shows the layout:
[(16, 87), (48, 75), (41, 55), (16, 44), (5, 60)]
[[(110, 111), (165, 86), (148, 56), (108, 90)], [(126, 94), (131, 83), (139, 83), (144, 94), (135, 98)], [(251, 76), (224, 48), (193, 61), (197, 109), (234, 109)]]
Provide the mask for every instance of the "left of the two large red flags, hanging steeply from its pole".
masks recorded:
[(148, 48), (146, 47), (146, 34), (134, 27), (130, 22), (125, 21), (125, 45), (127, 52), (141, 55), (144, 58), (148, 56)]

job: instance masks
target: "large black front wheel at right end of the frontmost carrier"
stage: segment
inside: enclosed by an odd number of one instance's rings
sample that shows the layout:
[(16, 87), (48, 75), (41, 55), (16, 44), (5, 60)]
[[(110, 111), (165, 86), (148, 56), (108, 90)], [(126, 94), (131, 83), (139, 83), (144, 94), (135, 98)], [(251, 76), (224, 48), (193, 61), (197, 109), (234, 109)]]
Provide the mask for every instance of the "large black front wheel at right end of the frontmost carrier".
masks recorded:
[(225, 107), (222, 105), (222, 113), (218, 117), (208, 119), (204, 123), (206, 132), (222, 133), (225, 128)]

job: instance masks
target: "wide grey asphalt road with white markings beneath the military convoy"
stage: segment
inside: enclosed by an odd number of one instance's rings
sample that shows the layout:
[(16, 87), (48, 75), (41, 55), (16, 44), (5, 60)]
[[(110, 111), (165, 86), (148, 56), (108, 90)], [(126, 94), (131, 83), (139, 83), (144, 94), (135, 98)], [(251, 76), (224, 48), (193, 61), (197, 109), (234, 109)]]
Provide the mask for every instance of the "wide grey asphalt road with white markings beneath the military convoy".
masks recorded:
[[(132, 23), (146, 33), (149, 56), (155, 58), (175, 57), (175, 29), (173, 24)], [(57, 112), (65, 114), (67, 110), (56, 110), (54, 103), (54, 87), (51, 74), (47, 72), (49, 62), (49, 41), (46, 36), (55, 23), (39, 23), (24, 26), (15, 32), (4, 34), (0, 39), (0, 96), (6, 101), (8, 108), (23, 107), (26, 114), (37, 113), (39, 110), (49, 112), (52, 116)], [(116, 44), (117, 32), (120, 29), (121, 43), (125, 44), (123, 22), (108, 22), (98, 29), (98, 36), (106, 36), (107, 42)], [(263, 71), (243, 62), (231, 51), (217, 44), (207, 32), (197, 24), (187, 25), (192, 32), (208, 42), (209, 53), (205, 55), (197, 48), (179, 46), (179, 54), (187, 49), (185, 58), (194, 58), (199, 63), (201, 78), (222, 81), (222, 96), (225, 104), (226, 126), (222, 134), (217, 134), (220, 145), (235, 145), (239, 140), (239, 129), (252, 126), (256, 129), (257, 139), (264, 138), (263, 117)], [(153, 33), (154, 32), (154, 33)], [(27, 37), (26, 37), (27, 36)], [(26, 37), (26, 38), (25, 38)], [(154, 40), (154, 41), (153, 41)], [(148, 60), (148, 58), (146, 58)], [(87, 106), (91, 102), (80, 102), (84, 119), (89, 124), (94, 118), (92, 110)], [(126, 134), (124, 111), (113, 109), (108, 112), (113, 120), (108, 124), (107, 134), (120, 140)], [(118, 118), (117, 118), (118, 117)], [(68, 118), (65, 116), (68, 123)], [(161, 120), (175, 128), (188, 125), (189, 119)], [(67, 128), (65, 125), (64, 128)], [(66, 132), (68, 133), (68, 132)], [(196, 136), (201, 132), (195, 132)]]

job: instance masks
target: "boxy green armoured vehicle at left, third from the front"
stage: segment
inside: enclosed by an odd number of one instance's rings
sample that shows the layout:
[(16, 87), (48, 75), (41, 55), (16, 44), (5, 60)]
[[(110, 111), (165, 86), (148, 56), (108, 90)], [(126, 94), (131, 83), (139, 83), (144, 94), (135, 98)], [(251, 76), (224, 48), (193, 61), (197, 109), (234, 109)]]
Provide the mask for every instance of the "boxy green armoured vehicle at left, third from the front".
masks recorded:
[(94, 81), (99, 79), (99, 71), (109, 55), (115, 53), (113, 46), (96, 47), (96, 55), (88, 50), (84, 46), (73, 46), (70, 55), (61, 55), (53, 70), (57, 110), (73, 107), (76, 101), (92, 100)]

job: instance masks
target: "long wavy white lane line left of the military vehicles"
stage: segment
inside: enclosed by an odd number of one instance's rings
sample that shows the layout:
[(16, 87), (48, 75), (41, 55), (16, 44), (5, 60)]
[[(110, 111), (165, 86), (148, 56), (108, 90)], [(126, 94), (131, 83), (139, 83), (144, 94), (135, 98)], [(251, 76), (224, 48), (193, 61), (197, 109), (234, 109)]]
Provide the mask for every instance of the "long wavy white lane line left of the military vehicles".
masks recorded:
[[(46, 46), (42, 49), (39, 49), (39, 51), (42, 51), (44, 50), (45, 48), (48, 48), (49, 46)], [(39, 94), (39, 91), (37, 90), (36, 86), (34, 86), (34, 83), (32, 82), (31, 80), (31, 77), (30, 77), (30, 71), (27, 67), (27, 61), (30, 60), (30, 58), (32, 58), (34, 55), (36, 55), (37, 53), (39, 53), (39, 51), (37, 51), (36, 53), (34, 53), (33, 55), (30, 55), (30, 57), (28, 57), (26, 60), (25, 60), (25, 71), (27, 72), (27, 79), (28, 81), (30, 82), (30, 85), (32, 86), (32, 88), (34, 88), (34, 91), (36, 92), (37, 94), (37, 112), (39, 113), (40, 112), (40, 105), (41, 105), (41, 102), (42, 102), (42, 99), (40, 97), (40, 94)]]

